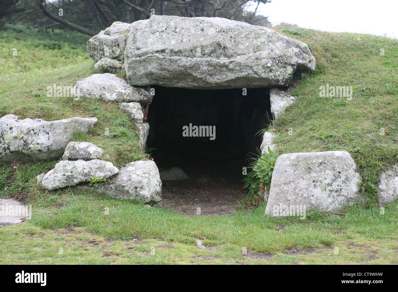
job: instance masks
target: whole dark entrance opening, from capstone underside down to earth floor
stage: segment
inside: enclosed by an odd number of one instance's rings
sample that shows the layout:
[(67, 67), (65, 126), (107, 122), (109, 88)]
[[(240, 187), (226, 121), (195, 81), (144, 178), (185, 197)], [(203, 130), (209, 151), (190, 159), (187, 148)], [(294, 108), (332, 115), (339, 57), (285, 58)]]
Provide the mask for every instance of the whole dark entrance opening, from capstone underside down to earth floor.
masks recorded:
[[(242, 167), (258, 154), (270, 122), (269, 89), (195, 90), (154, 86), (147, 151), (162, 179), (162, 206), (185, 215), (234, 213), (247, 196)], [(246, 93), (246, 95), (242, 95)], [(168, 168), (178, 167), (189, 178)]]

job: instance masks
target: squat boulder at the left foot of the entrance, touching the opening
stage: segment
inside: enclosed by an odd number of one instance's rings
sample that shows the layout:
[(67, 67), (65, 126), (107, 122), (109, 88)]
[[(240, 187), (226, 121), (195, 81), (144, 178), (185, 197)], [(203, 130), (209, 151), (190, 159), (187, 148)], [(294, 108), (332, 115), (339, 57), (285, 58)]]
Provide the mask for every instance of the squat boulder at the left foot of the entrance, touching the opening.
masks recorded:
[(123, 166), (117, 176), (100, 192), (116, 199), (129, 199), (144, 204), (160, 202), (162, 181), (153, 161), (134, 161)]

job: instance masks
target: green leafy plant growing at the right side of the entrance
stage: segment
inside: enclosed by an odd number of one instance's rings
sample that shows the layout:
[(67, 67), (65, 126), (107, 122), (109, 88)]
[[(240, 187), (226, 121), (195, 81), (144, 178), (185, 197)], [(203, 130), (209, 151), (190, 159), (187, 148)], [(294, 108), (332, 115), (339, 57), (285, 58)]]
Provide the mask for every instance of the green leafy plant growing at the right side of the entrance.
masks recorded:
[(268, 147), (268, 153), (264, 151), (261, 156), (250, 164), (249, 168), (251, 168), (252, 171), (242, 180), (245, 182), (243, 188), (247, 188), (252, 195), (259, 195), (265, 190), (268, 190), (271, 185), (275, 161), (278, 157), (279, 151), (273, 152)]

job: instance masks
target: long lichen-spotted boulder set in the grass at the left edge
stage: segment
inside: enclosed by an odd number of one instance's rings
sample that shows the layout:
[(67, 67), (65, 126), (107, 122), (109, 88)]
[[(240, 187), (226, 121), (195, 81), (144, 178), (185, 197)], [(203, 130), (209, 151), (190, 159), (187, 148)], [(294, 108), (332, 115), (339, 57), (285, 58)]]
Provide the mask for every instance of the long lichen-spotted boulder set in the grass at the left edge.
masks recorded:
[(0, 118), (0, 164), (18, 160), (48, 160), (64, 153), (76, 131), (88, 132), (97, 118), (69, 118), (52, 122), (8, 114)]

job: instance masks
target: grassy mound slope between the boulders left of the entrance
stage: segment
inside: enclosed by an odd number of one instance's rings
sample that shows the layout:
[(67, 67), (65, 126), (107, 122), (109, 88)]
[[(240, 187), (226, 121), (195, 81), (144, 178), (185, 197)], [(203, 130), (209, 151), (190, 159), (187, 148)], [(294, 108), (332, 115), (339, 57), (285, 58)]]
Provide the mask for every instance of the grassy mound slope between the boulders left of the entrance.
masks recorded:
[[(71, 86), (79, 79), (94, 73), (93, 62), (82, 60), (65, 69), (51, 70), (40, 76), (16, 75), (10, 81), (2, 81), (0, 116), (15, 114), (20, 118), (97, 117), (96, 127), (88, 134), (76, 133), (74, 141), (87, 141), (105, 150), (107, 161), (120, 166), (123, 163), (145, 159), (135, 124), (117, 108), (116, 103), (73, 97), (47, 97), (47, 86)], [(25, 81), (25, 82), (24, 82)], [(105, 129), (109, 135), (105, 135)]]

